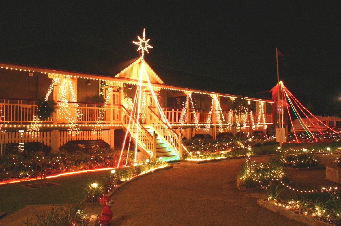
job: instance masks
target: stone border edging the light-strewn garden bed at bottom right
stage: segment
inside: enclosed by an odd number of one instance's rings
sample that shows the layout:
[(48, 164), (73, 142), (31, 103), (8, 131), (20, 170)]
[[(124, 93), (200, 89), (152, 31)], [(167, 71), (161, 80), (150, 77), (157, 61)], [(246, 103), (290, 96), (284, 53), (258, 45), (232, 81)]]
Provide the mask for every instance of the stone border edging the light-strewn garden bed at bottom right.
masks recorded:
[(285, 216), (291, 220), (298, 221), (298, 222), (301, 222), (301, 223), (306, 224), (306, 225), (310, 225), (310, 226), (335, 226), (333, 224), (329, 224), (329, 223), (326, 223), (324, 221), (315, 220), (310, 216), (306, 216), (303, 214), (296, 214), (291, 210), (287, 210), (283, 207), (276, 206), (276, 205), (269, 203), (267, 201), (264, 201), (262, 199), (257, 199), (257, 204), (264, 207), (264, 208), (267, 208), (267, 209), (269, 209), (275, 213), (279, 213), (279, 215)]

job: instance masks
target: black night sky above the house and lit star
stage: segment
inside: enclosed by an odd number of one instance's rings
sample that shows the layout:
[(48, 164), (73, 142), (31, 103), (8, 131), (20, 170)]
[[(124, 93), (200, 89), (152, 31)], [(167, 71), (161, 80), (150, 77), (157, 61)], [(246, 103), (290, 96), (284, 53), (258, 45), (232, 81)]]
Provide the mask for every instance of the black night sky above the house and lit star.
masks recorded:
[(267, 91), (278, 47), (291, 92), (315, 114), (341, 112), (340, 1), (70, 2), (2, 1), (0, 50), (71, 38), (134, 58), (146, 28), (148, 63)]

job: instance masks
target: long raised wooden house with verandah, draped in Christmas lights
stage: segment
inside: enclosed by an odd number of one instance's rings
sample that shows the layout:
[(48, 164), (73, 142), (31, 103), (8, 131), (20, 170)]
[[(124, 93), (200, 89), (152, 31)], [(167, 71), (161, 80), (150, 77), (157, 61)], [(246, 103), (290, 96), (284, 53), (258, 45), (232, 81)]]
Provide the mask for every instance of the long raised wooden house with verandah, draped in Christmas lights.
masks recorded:
[[(154, 131), (174, 146), (179, 134), (217, 138), (273, 127), (275, 101), (240, 84), (150, 65), (143, 57), (128, 59), (79, 41), (0, 51), (0, 67), (1, 155), (13, 144), (29, 149), (43, 143), (53, 152), (70, 142), (121, 148), (125, 132), (134, 133), (129, 125), (135, 125), (140, 133), (133, 142), (144, 157), (155, 150), (154, 158), (167, 157), (152, 142)], [(57, 103), (44, 121), (37, 118), (39, 98)], [(231, 110), (237, 98), (251, 111)], [(176, 150), (181, 152), (181, 144)]]

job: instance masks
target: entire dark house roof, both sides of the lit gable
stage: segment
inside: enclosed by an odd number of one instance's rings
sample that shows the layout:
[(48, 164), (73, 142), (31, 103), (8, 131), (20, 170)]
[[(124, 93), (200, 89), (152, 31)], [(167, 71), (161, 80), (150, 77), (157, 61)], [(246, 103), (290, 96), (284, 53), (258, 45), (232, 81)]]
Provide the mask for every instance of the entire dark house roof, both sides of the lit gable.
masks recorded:
[[(128, 59), (114, 52), (72, 39), (0, 51), (0, 62), (110, 77), (114, 77), (137, 59)], [(242, 84), (159, 65), (150, 64), (150, 66), (166, 85), (256, 99), (270, 99), (251, 91)]]

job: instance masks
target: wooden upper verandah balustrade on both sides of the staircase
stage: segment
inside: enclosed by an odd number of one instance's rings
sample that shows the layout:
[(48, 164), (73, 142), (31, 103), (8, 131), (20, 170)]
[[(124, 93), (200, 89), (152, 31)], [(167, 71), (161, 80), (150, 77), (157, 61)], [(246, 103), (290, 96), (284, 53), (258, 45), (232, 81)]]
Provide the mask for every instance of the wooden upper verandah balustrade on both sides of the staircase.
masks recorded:
[[(71, 105), (70, 116), (75, 116), (76, 111), (78, 111), (78, 120), (77, 123), (80, 124), (93, 124), (102, 122), (104, 124), (109, 123), (120, 123), (120, 105), (114, 104), (112, 109), (112, 113), (110, 114), (110, 105), (104, 107), (103, 103), (81, 103), (81, 102), (69, 102)], [(1, 114), (3, 116), (3, 120), (7, 124), (30, 124), (34, 120), (34, 116), (36, 115), (36, 102), (34, 100), (19, 100), (19, 99), (0, 99), (0, 109)], [(103, 114), (103, 111), (105, 112)], [(57, 109), (56, 120), (57, 124), (67, 124), (68, 120), (65, 117), (63, 110), (61, 108)], [(64, 111), (65, 112), (65, 111)], [(99, 116), (101, 113), (104, 115), (103, 121), (99, 121)], [(171, 124), (177, 124), (180, 121), (180, 117), (182, 114), (182, 109), (180, 108), (165, 108), (164, 114), (168, 119), (168, 122)], [(110, 120), (111, 115), (111, 120)], [(199, 124), (205, 124), (207, 122), (209, 115), (209, 110), (196, 110), (196, 116), (198, 118)], [(228, 120), (228, 111), (222, 111), (222, 115), (224, 116), (225, 121), (223, 123), (227, 123)], [(252, 116), (248, 115), (248, 123), (251, 123), (251, 117), (253, 117), (253, 122), (258, 123), (259, 113), (254, 113)], [(189, 124), (193, 124), (195, 122), (193, 111), (189, 111)], [(233, 119), (234, 120), (234, 119)], [(53, 118), (49, 118), (45, 124), (52, 124)], [(187, 124), (187, 117), (185, 119), (185, 124)], [(263, 124), (263, 118), (261, 118), (261, 124)], [(265, 113), (265, 123), (272, 123), (272, 113)]]

